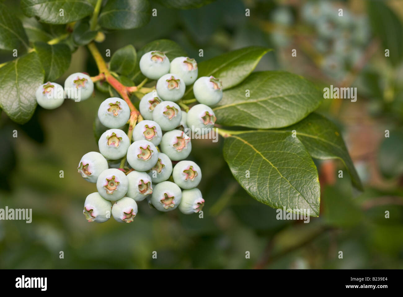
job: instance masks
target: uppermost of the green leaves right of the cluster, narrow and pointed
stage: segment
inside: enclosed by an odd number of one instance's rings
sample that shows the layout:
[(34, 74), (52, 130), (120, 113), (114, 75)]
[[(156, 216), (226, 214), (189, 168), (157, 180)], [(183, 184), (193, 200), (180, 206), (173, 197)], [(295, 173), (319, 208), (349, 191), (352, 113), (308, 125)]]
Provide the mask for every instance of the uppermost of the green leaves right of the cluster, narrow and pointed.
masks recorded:
[[(200, 62), (198, 76), (214, 76), (222, 81), (224, 90), (242, 82), (258, 65), (269, 48), (249, 46)], [(244, 92), (245, 93), (245, 92)], [(243, 94), (245, 95), (245, 94)]]

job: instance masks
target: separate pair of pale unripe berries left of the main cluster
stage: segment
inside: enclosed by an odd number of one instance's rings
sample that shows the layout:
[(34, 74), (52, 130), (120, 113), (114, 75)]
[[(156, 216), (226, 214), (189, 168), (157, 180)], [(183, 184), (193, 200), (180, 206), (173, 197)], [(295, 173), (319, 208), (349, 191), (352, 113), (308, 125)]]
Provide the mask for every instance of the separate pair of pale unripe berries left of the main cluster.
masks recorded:
[(62, 105), (64, 98), (84, 101), (91, 97), (93, 91), (91, 78), (87, 74), (77, 72), (66, 78), (64, 88), (56, 82), (41, 84), (35, 92), (35, 97), (39, 106), (52, 110)]

